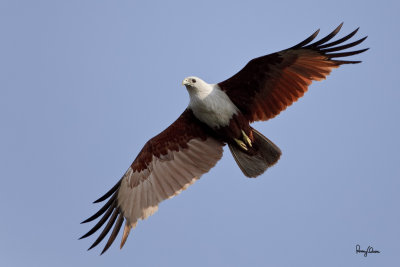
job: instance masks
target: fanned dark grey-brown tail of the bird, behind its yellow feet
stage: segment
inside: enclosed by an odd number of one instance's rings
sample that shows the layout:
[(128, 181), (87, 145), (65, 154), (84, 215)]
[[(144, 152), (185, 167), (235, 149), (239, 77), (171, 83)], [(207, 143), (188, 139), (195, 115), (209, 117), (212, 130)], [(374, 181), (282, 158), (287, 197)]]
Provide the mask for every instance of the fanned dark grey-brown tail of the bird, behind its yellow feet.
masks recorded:
[(252, 131), (255, 153), (246, 153), (235, 144), (228, 144), (228, 146), (243, 174), (254, 178), (274, 165), (279, 160), (282, 152), (279, 147), (256, 129), (252, 128)]

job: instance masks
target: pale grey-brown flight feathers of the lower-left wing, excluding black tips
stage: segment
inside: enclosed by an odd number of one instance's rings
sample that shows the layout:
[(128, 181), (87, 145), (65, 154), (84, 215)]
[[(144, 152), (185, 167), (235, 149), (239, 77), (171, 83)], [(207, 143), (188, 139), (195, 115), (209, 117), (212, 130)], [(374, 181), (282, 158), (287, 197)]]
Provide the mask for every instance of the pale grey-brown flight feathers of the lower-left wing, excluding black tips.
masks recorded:
[(214, 138), (192, 139), (187, 145), (161, 159), (153, 156), (145, 170), (137, 172), (130, 167), (126, 171), (118, 192), (118, 206), (126, 219), (121, 247), (139, 219), (154, 214), (158, 203), (185, 190), (222, 157), (223, 144)]

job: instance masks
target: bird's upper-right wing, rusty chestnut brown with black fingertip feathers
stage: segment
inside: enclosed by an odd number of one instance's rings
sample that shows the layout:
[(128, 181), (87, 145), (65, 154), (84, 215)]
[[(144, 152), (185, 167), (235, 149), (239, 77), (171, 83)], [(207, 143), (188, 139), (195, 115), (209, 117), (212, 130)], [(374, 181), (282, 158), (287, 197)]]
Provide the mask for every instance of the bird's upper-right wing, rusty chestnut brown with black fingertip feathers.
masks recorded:
[(255, 58), (234, 76), (218, 85), (249, 121), (271, 119), (302, 97), (312, 81), (325, 79), (333, 68), (342, 64), (361, 62), (336, 59), (368, 50), (341, 52), (367, 38), (343, 44), (358, 29), (337, 41), (327, 43), (339, 32), (342, 25), (343, 23), (312, 44), (309, 43), (318, 35), (319, 30), (289, 49)]

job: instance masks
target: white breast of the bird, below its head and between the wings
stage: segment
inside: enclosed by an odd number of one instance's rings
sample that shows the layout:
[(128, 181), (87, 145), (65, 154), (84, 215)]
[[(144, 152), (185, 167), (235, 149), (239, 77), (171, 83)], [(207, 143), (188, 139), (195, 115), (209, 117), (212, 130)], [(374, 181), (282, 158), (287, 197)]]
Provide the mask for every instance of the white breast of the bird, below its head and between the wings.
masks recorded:
[(238, 108), (217, 84), (202, 84), (202, 87), (189, 91), (189, 108), (200, 121), (212, 128), (228, 126)]

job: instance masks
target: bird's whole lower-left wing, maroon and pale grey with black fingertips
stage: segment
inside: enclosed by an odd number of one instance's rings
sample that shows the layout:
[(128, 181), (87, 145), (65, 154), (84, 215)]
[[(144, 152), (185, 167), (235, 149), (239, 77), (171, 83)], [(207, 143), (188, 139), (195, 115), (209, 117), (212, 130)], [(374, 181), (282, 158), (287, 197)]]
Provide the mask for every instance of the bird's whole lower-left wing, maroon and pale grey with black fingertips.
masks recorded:
[(106, 224), (89, 248), (95, 247), (114, 227), (102, 254), (114, 242), (122, 223), (124, 245), (129, 231), (139, 219), (157, 211), (158, 203), (179, 194), (208, 172), (222, 157), (223, 143), (213, 138), (191, 110), (187, 109), (166, 130), (149, 140), (121, 180), (95, 203), (108, 202), (83, 223), (103, 215), (81, 238), (95, 233)]

